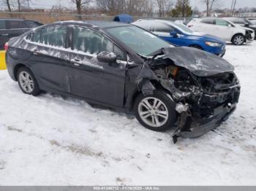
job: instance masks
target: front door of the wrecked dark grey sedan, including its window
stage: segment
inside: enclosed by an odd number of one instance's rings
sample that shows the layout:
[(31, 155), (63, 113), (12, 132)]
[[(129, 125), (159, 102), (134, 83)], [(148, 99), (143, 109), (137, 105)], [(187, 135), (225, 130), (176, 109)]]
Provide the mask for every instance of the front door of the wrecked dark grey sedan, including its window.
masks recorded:
[[(71, 93), (112, 106), (124, 104), (126, 55), (106, 36), (89, 28), (75, 27), (69, 61)], [(99, 52), (118, 55), (114, 63), (97, 60)], [(123, 60), (123, 61), (120, 61)]]

